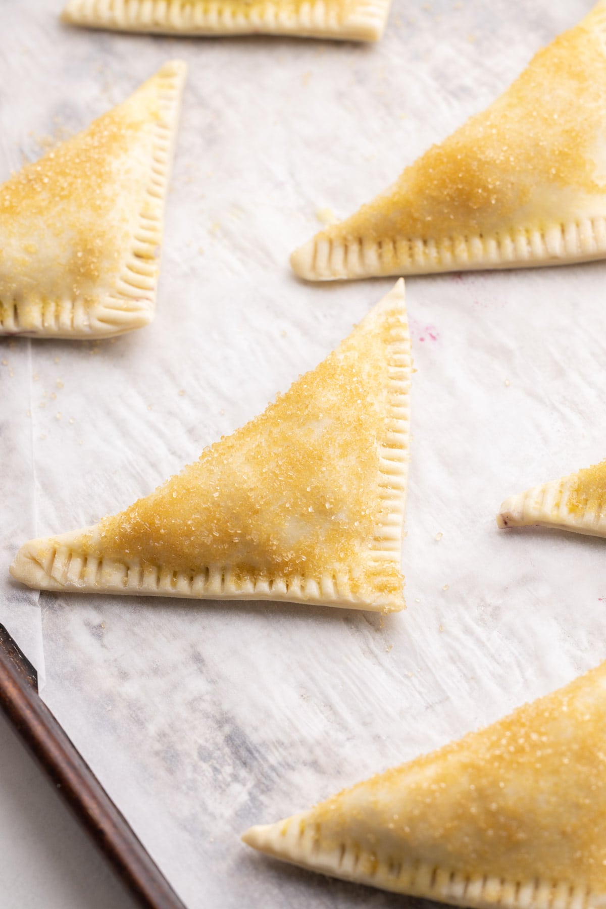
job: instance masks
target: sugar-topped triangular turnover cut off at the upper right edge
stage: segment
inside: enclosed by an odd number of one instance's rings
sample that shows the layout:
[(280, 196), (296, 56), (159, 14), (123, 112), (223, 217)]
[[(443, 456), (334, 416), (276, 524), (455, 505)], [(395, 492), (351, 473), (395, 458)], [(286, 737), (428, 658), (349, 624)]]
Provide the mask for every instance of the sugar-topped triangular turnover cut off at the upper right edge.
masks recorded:
[(313, 281), (606, 255), (606, 0), (395, 185), (293, 253)]

